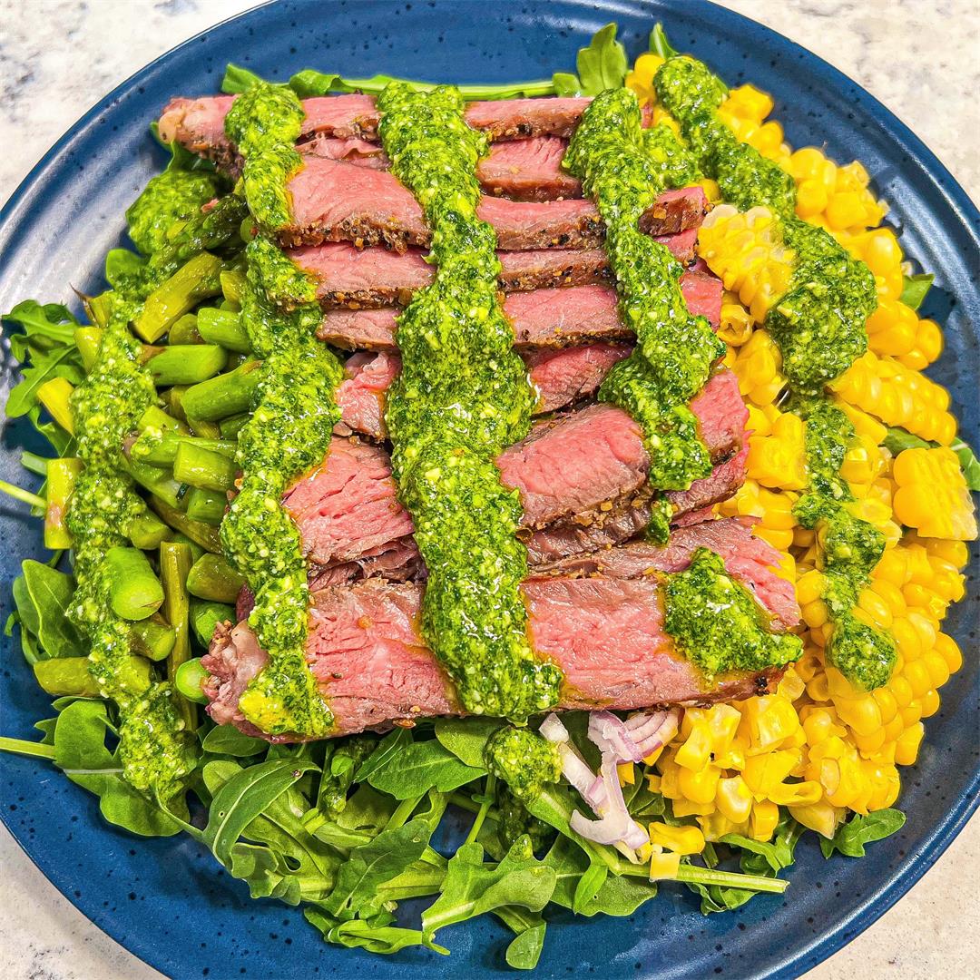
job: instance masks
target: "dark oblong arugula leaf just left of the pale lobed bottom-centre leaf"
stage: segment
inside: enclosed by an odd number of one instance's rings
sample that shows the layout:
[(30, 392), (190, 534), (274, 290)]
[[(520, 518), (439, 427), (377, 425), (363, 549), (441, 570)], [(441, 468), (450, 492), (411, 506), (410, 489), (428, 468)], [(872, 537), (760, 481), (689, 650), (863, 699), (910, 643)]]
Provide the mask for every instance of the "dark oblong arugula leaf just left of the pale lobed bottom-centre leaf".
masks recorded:
[(409, 820), (355, 848), (340, 866), (337, 884), (321, 904), (323, 910), (337, 919), (369, 918), (379, 912), (381, 887), (421, 858), (432, 829), (427, 820)]

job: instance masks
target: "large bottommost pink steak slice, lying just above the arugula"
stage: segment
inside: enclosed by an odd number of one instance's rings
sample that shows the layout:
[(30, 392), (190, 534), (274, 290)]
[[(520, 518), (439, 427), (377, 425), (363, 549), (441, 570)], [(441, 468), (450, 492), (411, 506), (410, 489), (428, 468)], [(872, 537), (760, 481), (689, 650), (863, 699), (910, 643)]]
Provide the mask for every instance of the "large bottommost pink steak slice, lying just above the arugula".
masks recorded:
[[(730, 574), (755, 594), (774, 628), (799, 620), (792, 586), (769, 565), (778, 555), (741, 518), (677, 531), (670, 544), (613, 549), (568, 573), (551, 568), (522, 586), (535, 648), (564, 671), (564, 708), (647, 708), (706, 704), (768, 689), (780, 670), (738, 673), (708, 686), (673, 651), (662, 629), (657, 572), (679, 571), (699, 547), (717, 551)], [(423, 586), (370, 580), (314, 595), (311, 667), (337, 719), (336, 734), (383, 728), (393, 721), (460, 713), (453, 687), (417, 632)], [(219, 723), (243, 722), (238, 698), (265, 663), (244, 623), (221, 627), (204, 665), (206, 693)]]

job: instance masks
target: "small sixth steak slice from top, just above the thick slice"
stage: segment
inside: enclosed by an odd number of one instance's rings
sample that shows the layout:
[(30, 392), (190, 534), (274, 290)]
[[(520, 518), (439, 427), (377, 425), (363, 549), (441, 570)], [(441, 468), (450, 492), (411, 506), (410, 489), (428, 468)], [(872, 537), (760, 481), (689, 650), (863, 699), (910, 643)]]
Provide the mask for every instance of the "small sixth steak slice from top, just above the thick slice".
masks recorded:
[[(628, 357), (629, 352), (628, 347), (614, 344), (525, 352), (528, 377), (538, 392), (535, 414), (555, 412), (576, 399), (595, 394), (609, 369)], [(385, 392), (401, 369), (401, 358), (394, 352), (361, 353), (349, 358), (344, 366), (347, 377), (336, 391), (341, 417), (334, 432), (385, 438)]]

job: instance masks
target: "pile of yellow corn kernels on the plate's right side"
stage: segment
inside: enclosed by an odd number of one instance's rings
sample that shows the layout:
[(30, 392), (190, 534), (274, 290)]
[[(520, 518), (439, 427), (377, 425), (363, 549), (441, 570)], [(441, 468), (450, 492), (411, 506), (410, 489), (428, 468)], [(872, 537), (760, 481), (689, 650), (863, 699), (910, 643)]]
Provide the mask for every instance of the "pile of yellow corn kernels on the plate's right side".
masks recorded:
[[(641, 56), (626, 84), (653, 103), (657, 122), (671, 124), (653, 89), (661, 64), (657, 55)], [(838, 166), (812, 147), (794, 152), (779, 123), (766, 122), (771, 111), (768, 95), (742, 85), (719, 115), (741, 140), (792, 173), (798, 216), (827, 228), (875, 275), (879, 305), (867, 321), (869, 349), (831, 387), (857, 435), (842, 468), (855, 497), (848, 506), (887, 542), (855, 614), (891, 633), (898, 661), (889, 683), (869, 693), (824, 660), (829, 627), (816, 534), (793, 515), (807, 485), (805, 426), (780, 411), (782, 363), (760, 327), (785, 291), (793, 253), (765, 209), (740, 214), (719, 205), (702, 227), (699, 252), (724, 284), (719, 335), (752, 435), (749, 478), (716, 510), (757, 517), (756, 533), (782, 553), (775, 570), (796, 583), (805, 653), (773, 695), (685, 711), (677, 735), (647, 760), (651, 788), (671, 801), (676, 816), (692, 821), (650, 826), (654, 876), (669, 876), (679, 856), (697, 854), (727, 833), (769, 840), (780, 808), (829, 837), (849, 811), (892, 806), (900, 790), (897, 767), (916, 760), (923, 719), (939, 710), (939, 690), (962, 663), (941, 626), (963, 595), (962, 542), (977, 536), (977, 525), (956, 456), (945, 448), (956, 437), (949, 394), (920, 373), (942, 351), (941, 330), (901, 302), (905, 259), (892, 230), (878, 226), (887, 207), (872, 194), (864, 168)], [(713, 181), (705, 183), (717, 200)], [(941, 446), (893, 459), (883, 446), (887, 426)]]

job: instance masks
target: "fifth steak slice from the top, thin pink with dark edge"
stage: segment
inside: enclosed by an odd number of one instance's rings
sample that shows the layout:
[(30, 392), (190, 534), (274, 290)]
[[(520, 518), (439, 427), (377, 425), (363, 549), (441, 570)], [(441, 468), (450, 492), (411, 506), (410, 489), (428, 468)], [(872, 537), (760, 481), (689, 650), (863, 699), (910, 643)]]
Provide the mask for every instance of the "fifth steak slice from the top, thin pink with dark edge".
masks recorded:
[[(721, 280), (711, 272), (685, 272), (681, 292), (688, 310), (717, 327), (721, 317)], [(317, 330), (320, 340), (348, 350), (395, 350), (395, 320), (400, 311), (330, 310)], [(504, 313), (514, 325), (518, 348), (564, 347), (589, 340), (627, 339), (632, 332), (619, 319), (612, 286), (565, 286), (511, 293)]]

